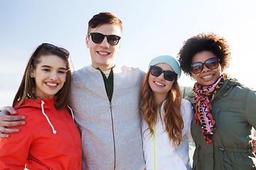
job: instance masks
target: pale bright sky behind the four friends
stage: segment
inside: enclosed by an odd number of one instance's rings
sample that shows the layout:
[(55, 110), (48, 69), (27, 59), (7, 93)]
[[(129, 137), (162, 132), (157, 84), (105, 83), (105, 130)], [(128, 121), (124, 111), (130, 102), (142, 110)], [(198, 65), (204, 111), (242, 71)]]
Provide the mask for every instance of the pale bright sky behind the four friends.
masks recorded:
[[(0, 108), (11, 106), (28, 59), (42, 42), (65, 47), (73, 70), (91, 64), (87, 23), (102, 11), (123, 23), (117, 63), (146, 72), (152, 58), (177, 57), (191, 36), (215, 33), (230, 45), (233, 59), (225, 72), (256, 89), (255, 7), (255, 0), (0, 0)], [(178, 83), (195, 81), (183, 74)]]

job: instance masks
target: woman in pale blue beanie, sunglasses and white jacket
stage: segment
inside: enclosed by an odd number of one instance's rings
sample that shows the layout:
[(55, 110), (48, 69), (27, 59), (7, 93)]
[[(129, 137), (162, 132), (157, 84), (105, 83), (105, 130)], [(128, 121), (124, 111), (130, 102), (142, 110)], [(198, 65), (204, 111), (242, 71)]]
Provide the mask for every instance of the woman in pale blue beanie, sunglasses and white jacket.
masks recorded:
[(146, 169), (191, 169), (191, 103), (181, 99), (181, 68), (169, 55), (155, 57), (142, 82), (142, 132)]

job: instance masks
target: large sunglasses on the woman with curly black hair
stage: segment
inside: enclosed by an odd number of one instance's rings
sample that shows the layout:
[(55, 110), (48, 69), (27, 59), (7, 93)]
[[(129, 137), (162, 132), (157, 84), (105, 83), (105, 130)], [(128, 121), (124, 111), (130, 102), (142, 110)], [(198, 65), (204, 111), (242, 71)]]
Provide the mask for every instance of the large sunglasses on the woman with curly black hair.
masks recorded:
[(191, 72), (193, 72), (194, 74), (198, 74), (198, 73), (202, 72), (203, 64), (205, 64), (208, 69), (217, 69), (219, 62), (220, 62), (220, 60), (218, 60), (218, 58), (216, 58), (216, 57), (209, 58), (208, 60), (206, 60), (205, 63), (194, 62), (191, 65)]

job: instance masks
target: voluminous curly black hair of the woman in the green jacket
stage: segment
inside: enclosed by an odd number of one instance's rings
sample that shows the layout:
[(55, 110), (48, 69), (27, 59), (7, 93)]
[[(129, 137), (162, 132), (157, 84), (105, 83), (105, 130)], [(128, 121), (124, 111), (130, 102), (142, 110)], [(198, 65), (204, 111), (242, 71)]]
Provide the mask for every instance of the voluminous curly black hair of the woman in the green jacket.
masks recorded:
[(178, 53), (178, 62), (183, 72), (191, 76), (192, 58), (198, 52), (210, 51), (220, 60), (221, 69), (226, 69), (230, 62), (230, 49), (228, 42), (213, 33), (201, 33), (183, 42)]

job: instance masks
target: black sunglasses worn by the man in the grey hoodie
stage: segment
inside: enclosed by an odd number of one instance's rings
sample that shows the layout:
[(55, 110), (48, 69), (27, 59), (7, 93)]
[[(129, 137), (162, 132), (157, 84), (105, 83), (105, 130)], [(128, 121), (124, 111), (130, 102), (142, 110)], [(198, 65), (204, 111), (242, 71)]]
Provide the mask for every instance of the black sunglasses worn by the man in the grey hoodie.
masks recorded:
[(110, 45), (117, 45), (120, 40), (120, 37), (117, 35), (103, 35), (102, 33), (90, 33), (89, 35), (92, 37), (92, 42), (95, 42), (96, 44), (100, 44), (105, 37), (107, 37), (107, 42)]

